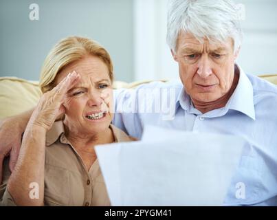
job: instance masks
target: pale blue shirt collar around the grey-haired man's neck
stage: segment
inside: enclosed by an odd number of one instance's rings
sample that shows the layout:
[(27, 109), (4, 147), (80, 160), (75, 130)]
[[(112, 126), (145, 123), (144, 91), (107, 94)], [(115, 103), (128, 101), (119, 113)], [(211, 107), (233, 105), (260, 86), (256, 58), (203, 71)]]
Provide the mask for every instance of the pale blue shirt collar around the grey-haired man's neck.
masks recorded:
[[(252, 83), (243, 72), (243, 69), (239, 67), (239, 65), (235, 64), (235, 67), (239, 70), (239, 83), (236, 86), (234, 93), (230, 97), (230, 100), (225, 105), (224, 109), (226, 109), (227, 111), (229, 109), (240, 111), (241, 113), (244, 113), (248, 117), (255, 120), (256, 117)], [(190, 111), (192, 107), (190, 104), (190, 96), (188, 96), (184, 87), (181, 89), (177, 96), (177, 107), (178, 102), (182, 109)], [(195, 109), (195, 113), (197, 113), (197, 109)]]

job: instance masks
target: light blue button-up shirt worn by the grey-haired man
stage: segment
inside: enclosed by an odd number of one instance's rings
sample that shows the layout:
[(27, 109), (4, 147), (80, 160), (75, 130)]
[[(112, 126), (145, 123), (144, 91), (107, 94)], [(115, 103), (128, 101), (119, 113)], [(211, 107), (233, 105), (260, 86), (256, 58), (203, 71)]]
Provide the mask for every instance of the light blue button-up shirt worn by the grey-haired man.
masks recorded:
[(113, 124), (140, 139), (146, 124), (181, 131), (240, 135), (243, 152), (224, 205), (277, 206), (277, 87), (240, 69), (239, 83), (221, 109), (201, 113), (180, 82), (115, 91)]

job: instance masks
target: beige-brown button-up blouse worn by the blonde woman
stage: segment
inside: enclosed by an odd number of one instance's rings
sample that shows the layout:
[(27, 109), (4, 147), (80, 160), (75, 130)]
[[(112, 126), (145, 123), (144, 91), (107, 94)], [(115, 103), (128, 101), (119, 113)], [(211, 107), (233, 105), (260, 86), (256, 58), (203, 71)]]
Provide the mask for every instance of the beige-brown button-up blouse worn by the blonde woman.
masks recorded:
[[(110, 125), (115, 142), (135, 140)], [(63, 122), (55, 122), (46, 135), (45, 206), (110, 206), (107, 189), (98, 159), (87, 171), (80, 155), (65, 137)], [(3, 184), (0, 185), (0, 206), (16, 206), (6, 189), (10, 170), (8, 159), (3, 164)], [(31, 190), (31, 189), (30, 189)]]

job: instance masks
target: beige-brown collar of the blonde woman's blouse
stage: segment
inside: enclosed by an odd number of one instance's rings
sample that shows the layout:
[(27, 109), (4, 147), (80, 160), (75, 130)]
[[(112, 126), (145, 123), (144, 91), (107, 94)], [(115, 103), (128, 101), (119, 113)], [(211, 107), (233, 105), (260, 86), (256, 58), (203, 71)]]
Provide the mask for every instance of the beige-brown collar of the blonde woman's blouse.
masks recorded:
[[(115, 142), (128, 142), (130, 140), (135, 140), (132, 137), (129, 137), (118, 129), (117, 127), (110, 124), (111, 131), (113, 132), (113, 137)], [(65, 137), (65, 126), (63, 121), (54, 122), (52, 128), (46, 133), (46, 146), (54, 144), (60, 138), (60, 142), (63, 144), (69, 144), (67, 138)]]

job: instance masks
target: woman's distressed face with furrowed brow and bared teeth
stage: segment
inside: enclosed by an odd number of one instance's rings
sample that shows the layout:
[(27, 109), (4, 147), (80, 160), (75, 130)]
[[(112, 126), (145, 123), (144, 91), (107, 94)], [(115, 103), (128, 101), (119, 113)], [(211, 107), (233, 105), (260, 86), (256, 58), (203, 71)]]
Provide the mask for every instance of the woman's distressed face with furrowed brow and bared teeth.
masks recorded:
[(65, 125), (69, 131), (84, 135), (107, 131), (113, 118), (113, 91), (107, 65), (96, 56), (86, 56), (62, 69), (55, 83), (74, 71), (80, 80), (67, 92), (63, 104)]

